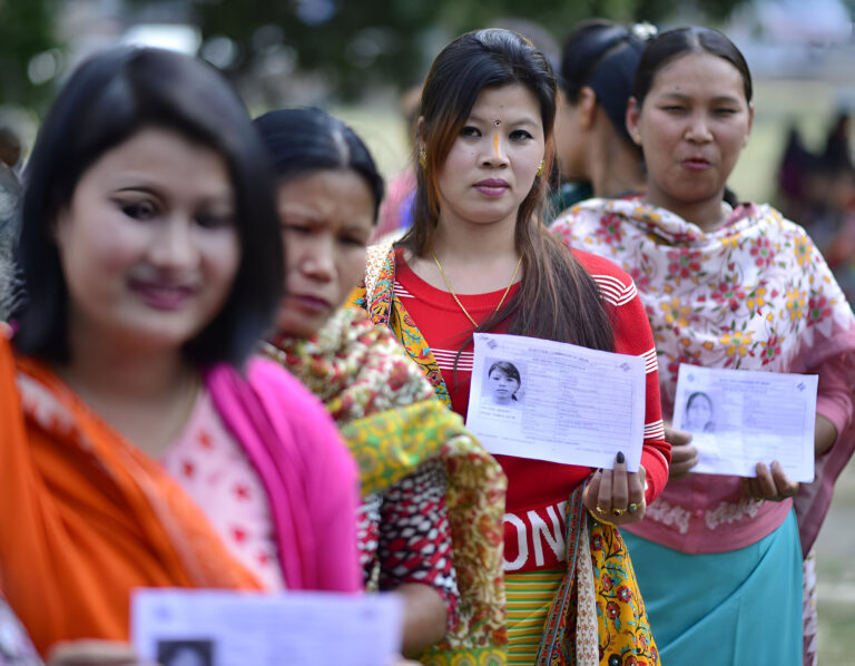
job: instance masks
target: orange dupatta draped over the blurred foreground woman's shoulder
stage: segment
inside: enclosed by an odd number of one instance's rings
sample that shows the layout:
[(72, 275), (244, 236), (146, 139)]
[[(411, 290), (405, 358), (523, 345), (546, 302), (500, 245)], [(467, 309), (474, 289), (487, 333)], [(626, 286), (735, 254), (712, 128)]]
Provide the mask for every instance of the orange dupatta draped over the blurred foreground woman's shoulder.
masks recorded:
[(0, 498), (0, 587), (42, 655), (127, 640), (135, 587), (261, 587), (157, 461), (2, 336)]

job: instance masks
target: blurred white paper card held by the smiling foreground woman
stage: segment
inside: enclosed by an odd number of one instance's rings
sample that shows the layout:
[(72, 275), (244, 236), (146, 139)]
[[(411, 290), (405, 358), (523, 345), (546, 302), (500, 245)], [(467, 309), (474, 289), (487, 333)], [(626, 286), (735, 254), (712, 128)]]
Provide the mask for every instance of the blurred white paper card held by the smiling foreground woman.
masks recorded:
[(401, 652), (394, 595), (140, 588), (131, 640), (163, 666), (385, 666)]

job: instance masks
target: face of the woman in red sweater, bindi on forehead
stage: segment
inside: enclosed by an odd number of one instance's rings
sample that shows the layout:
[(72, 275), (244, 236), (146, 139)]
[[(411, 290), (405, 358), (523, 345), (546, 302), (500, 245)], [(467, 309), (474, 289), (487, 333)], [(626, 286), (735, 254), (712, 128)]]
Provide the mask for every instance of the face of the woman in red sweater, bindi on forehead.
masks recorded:
[(514, 225), (544, 146), (540, 105), (528, 88), (481, 90), (440, 172), (440, 222)]

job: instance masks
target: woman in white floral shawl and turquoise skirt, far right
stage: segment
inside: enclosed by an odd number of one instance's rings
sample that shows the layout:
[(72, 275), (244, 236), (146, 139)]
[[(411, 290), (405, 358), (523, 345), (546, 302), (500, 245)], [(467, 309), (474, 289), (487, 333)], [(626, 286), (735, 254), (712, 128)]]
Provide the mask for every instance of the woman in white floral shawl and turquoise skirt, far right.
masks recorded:
[(819, 375), (813, 483), (799, 488), (778, 463), (758, 463), (750, 479), (690, 473), (690, 435), (670, 433), (668, 487), (627, 537), (664, 663), (802, 663), (803, 554), (855, 444), (849, 305), (802, 227), (767, 205), (723, 200), (750, 100), (748, 68), (727, 37), (705, 28), (659, 36), (628, 114), (646, 197), (591, 199), (553, 227), (633, 276), (666, 419), (681, 363)]

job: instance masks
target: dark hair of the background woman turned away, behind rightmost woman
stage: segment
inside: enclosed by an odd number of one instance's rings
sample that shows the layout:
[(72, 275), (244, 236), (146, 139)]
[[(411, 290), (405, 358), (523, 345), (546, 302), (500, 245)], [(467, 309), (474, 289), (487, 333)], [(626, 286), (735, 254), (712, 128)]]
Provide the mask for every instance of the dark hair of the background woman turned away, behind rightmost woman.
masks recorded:
[(579, 23), (564, 42), (559, 84), (571, 104), (589, 87), (615, 129), (639, 149), (627, 131), (627, 102), (645, 41), (613, 21), (591, 19)]

